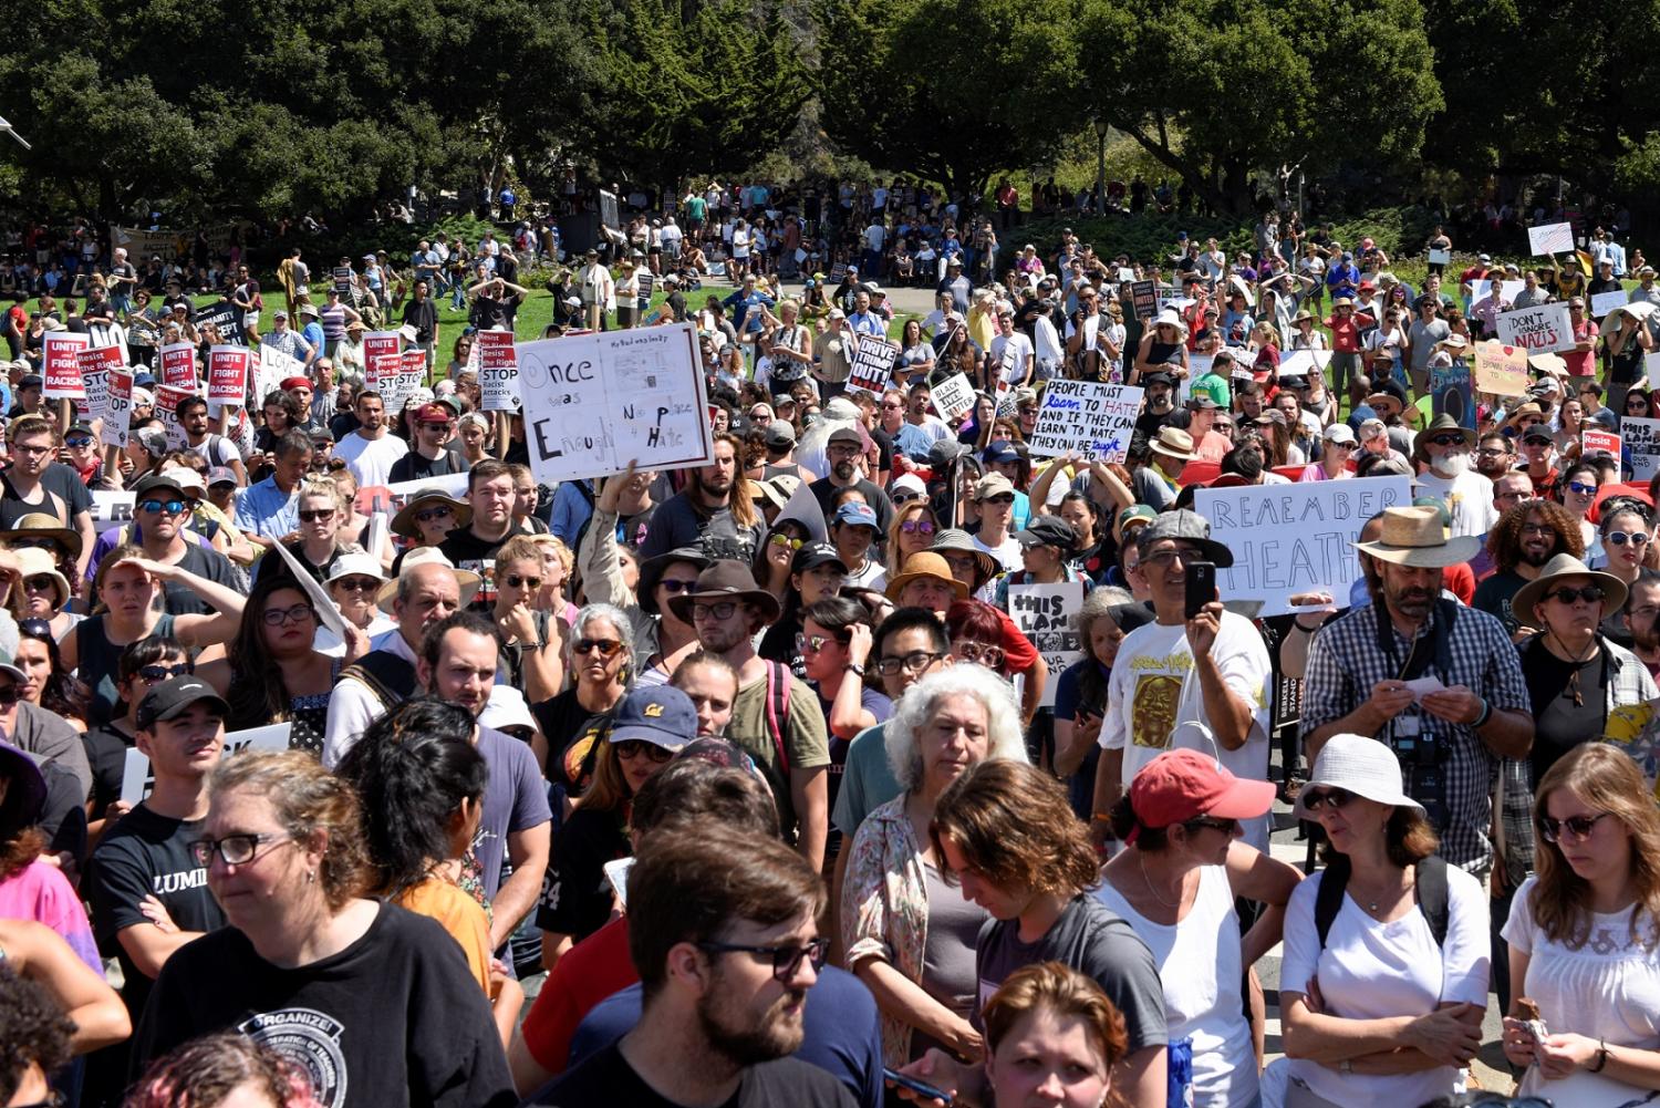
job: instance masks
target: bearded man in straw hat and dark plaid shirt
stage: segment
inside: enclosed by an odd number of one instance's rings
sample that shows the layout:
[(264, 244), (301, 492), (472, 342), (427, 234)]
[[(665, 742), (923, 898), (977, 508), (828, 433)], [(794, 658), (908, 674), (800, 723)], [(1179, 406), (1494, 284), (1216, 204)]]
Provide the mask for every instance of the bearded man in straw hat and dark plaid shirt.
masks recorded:
[[(1484, 877), (1499, 759), (1527, 757), (1534, 716), (1504, 625), (1441, 598), (1443, 570), (1479, 547), (1469, 535), (1449, 538), (1438, 508), (1384, 508), (1378, 540), (1355, 543), (1368, 555), (1373, 603), (1308, 645), (1300, 734), (1310, 759), (1333, 734), (1388, 743), (1408, 796), (1441, 836), (1441, 856)], [(1434, 678), (1433, 688), (1411, 688), (1418, 678)]]

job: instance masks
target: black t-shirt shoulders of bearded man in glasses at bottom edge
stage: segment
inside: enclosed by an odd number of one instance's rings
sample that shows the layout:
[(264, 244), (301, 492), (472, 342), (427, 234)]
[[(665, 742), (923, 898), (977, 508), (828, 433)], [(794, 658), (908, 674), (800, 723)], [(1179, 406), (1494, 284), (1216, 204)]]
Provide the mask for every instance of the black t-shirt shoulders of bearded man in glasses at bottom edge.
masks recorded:
[[(696, 1063), (694, 1060), (687, 1060)], [(684, 1108), (646, 1085), (613, 1043), (536, 1095), (538, 1108)], [(720, 1108), (855, 1108), (858, 1101), (833, 1076), (795, 1058), (744, 1070)]]

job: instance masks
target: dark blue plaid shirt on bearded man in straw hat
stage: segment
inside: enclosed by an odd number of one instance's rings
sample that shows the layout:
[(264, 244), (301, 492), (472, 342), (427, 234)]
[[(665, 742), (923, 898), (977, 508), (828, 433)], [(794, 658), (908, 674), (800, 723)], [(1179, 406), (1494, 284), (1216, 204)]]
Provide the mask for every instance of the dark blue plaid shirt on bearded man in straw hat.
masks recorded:
[[(1374, 684), (1401, 676), (1413, 645), (1391, 625), (1394, 653), (1378, 650), (1379, 610), (1378, 603), (1358, 606), (1323, 626), (1310, 643), (1300, 724), (1305, 743), (1310, 733), (1360, 708)], [(1436, 615), (1438, 610), (1419, 628), (1419, 636), (1431, 633)], [(1516, 646), (1494, 616), (1459, 608), (1448, 648), (1451, 664), (1443, 669), (1439, 659), (1433, 659), (1424, 676), (1439, 678), (1448, 686), (1462, 684), (1494, 711), (1532, 714)], [(1418, 716), (1419, 743), (1444, 743), (1449, 749), (1441, 764), (1448, 826), (1436, 827), (1441, 834), (1441, 856), (1472, 874), (1486, 874), (1492, 865), (1492, 841), (1487, 832), (1492, 827), (1492, 791), (1501, 759), (1481, 741), (1476, 728), (1439, 719), (1416, 706), (1401, 716), (1408, 713)], [(1374, 738), (1389, 741), (1394, 728), (1391, 723)]]

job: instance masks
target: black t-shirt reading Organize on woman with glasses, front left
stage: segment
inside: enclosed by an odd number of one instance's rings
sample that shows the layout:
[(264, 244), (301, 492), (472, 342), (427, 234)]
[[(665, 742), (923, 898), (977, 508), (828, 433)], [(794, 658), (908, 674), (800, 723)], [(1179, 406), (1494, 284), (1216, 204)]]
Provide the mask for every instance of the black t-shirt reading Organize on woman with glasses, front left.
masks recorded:
[(299, 1063), (322, 1108), (511, 1108), (490, 1003), (455, 939), (382, 904), (345, 950), (299, 968), (227, 927), (174, 952), (133, 1037), (133, 1070), (236, 1030)]

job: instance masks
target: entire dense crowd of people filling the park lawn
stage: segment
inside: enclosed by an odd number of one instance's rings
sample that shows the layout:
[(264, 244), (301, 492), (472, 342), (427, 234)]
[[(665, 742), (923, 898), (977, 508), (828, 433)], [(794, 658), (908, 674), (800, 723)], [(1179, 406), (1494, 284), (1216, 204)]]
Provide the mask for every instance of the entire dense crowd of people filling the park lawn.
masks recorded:
[[(901, 321), (885, 248), (797, 301), (710, 241), (735, 287), (681, 306), (709, 462), (551, 495), (466, 351), (398, 412), (362, 387), (364, 312), (299, 254), (294, 304), (241, 319), (295, 375), (169, 419), (141, 384), (126, 447), (25, 342), (0, 1100), (1454, 1103), (1492, 993), (1524, 1095), (1660, 1096), (1655, 488), (1585, 439), (1648, 415), (1627, 346), (1585, 321), (1466, 425), (1416, 400), (1497, 262), (1419, 291), (1370, 243), (1051, 246), (954, 251)], [(1522, 296), (1572, 306), (1579, 266)], [(131, 347), (103, 276), (75, 321)], [(1602, 336), (1648, 349), (1632, 276)], [(480, 277), (511, 327), (511, 276)], [(888, 334), (890, 380), (848, 389)], [(1295, 351), (1330, 379), (1282, 375)], [(1144, 389), (1122, 462), (1034, 457), (1056, 379)], [(1414, 500), (1355, 535), (1355, 581), (1272, 620), (1195, 596), (1242, 556), (1199, 488), (1370, 475)], [(1013, 618), (1034, 585), (1082, 595), (1076, 658)], [(1270, 852), (1277, 799), (1321, 869)]]

